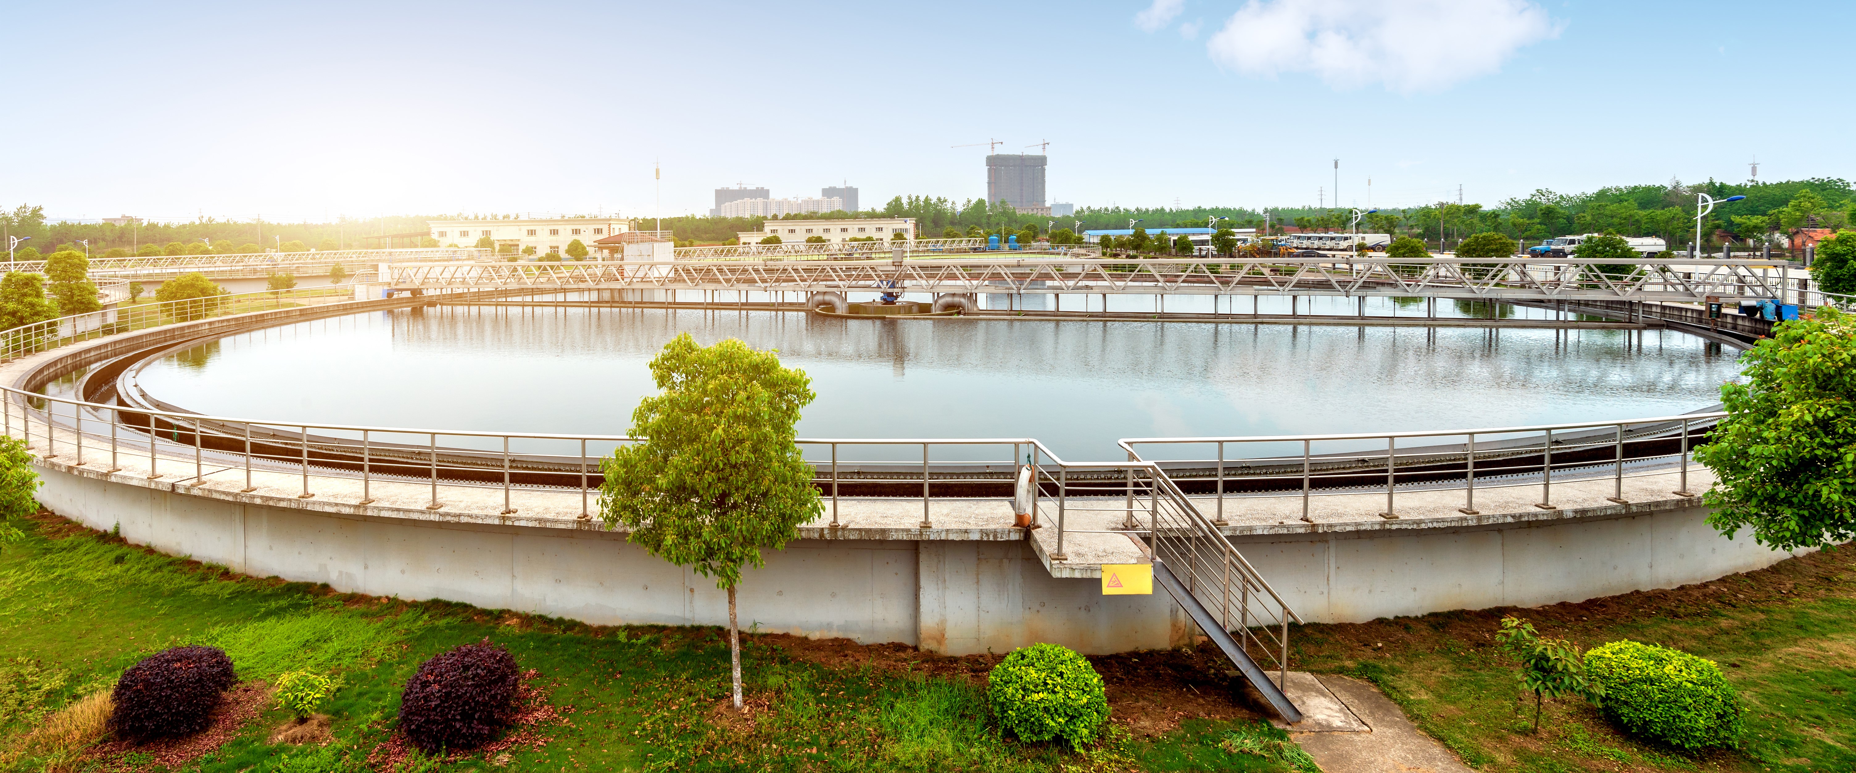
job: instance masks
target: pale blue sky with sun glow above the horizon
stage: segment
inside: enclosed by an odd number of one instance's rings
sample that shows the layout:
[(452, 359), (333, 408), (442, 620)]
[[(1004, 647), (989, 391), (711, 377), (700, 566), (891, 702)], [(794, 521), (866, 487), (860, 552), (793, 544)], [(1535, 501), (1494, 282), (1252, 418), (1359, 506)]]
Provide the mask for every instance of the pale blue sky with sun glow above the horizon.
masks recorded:
[[(15, 4), (0, 204), (705, 211), (848, 180), (1299, 206), (1852, 176), (1849, 2)], [(1763, 115), (1756, 111), (1763, 108)], [(1036, 152), (1030, 148), (1028, 152)]]

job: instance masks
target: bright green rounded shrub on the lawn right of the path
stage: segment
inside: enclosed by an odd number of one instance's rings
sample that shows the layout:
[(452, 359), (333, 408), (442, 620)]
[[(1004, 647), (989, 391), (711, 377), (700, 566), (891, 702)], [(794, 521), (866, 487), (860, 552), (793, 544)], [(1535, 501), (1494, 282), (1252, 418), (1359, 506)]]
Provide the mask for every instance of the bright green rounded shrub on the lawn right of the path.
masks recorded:
[(1641, 641), (1585, 653), (1585, 673), (1605, 691), (1607, 719), (1676, 749), (1739, 747), (1739, 695), (1713, 660)]

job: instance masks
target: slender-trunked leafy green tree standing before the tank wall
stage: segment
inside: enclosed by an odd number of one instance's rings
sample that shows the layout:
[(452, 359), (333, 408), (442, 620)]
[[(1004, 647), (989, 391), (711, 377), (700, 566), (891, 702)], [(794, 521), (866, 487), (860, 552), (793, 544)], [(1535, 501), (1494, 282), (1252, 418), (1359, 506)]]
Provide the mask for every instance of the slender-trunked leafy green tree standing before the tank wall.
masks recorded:
[(599, 517), (624, 525), (627, 541), (676, 565), (692, 565), (728, 589), (728, 643), (741, 708), (741, 628), (735, 586), (763, 549), (785, 549), (798, 526), (824, 513), (813, 467), (793, 443), (800, 408), (813, 400), (804, 371), (778, 352), (737, 339), (700, 347), (689, 334), (651, 360), (661, 389), (631, 413), (631, 436), (601, 462)]

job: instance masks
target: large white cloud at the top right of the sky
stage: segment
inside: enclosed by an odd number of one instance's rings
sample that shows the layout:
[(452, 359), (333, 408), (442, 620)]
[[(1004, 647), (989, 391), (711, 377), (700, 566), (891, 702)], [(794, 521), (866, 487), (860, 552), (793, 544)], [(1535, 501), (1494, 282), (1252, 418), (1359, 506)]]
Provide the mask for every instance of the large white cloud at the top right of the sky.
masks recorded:
[(1412, 93), (1494, 72), (1559, 30), (1529, 0), (1249, 0), (1206, 50), (1244, 74), (1310, 72), (1333, 87)]

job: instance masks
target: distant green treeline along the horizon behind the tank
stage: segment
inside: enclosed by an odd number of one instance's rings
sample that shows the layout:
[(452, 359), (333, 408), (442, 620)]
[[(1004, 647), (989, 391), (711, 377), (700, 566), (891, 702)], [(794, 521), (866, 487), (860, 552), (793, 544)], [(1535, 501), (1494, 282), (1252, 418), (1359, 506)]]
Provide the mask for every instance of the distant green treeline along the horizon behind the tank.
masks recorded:
[[(1670, 248), (1685, 247), (1695, 234), (1695, 196), (1706, 193), (1717, 200), (1728, 196), (1746, 196), (1745, 200), (1721, 204), (1709, 213), (1702, 228), (1704, 247), (1717, 245), (1715, 234), (1726, 232), (1737, 239), (1763, 239), (1784, 234), (1791, 228), (1821, 226), (1845, 228), (1856, 219), (1856, 191), (1847, 180), (1811, 178), (1769, 184), (1724, 184), (1709, 180), (1706, 184), (1683, 185), (1676, 180), (1661, 185), (1620, 185), (1604, 187), (1592, 193), (1563, 195), (1553, 191), (1535, 191), (1526, 198), (1509, 198), (1496, 206), (1450, 204), (1379, 209), (1364, 215), (1359, 230), (1366, 234), (1414, 235), (1425, 241), (1461, 241), (1476, 234), (1494, 232), (1511, 239), (1537, 241), (1566, 234), (1617, 232), (1620, 235), (1659, 235)], [(52, 252), (58, 245), (78, 245), (89, 239), (91, 252), (100, 254), (110, 248), (135, 250), (139, 245), (202, 243), (212, 239), (215, 252), (226, 250), (221, 243), (258, 245), (275, 248), (282, 243), (303, 243), (316, 248), (356, 248), (362, 237), (375, 234), (423, 232), (427, 221), (442, 219), (507, 219), (514, 215), (431, 215), (431, 217), (382, 217), (382, 219), (342, 219), (336, 222), (262, 222), (262, 221), (215, 221), (200, 219), (193, 222), (150, 222), (141, 226), (46, 222), (43, 208), (20, 204), (13, 211), (0, 211), (0, 235), (33, 237), (37, 252)], [(1281, 234), (1282, 226), (1303, 230), (1347, 230), (1351, 209), (1321, 208), (1266, 208), (1264, 211), (1247, 208), (1080, 208), (1075, 215), (1021, 215), (1004, 202), (987, 204), (984, 198), (954, 200), (947, 196), (906, 195), (895, 196), (882, 209), (857, 213), (824, 211), (806, 215), (785, 215), (785, 221), (815, 219), (852, 219), (852, 217), (913, 217), (917, 234), (922, 237), (941, 235), (984, 235), (999, 232), (1021, 234), (1034, 230), (1050, 234), (1054, 230), (1110, 230), (1128, 228), (1130, 221), (1147, 232), (1166, 228), (1206, 226), (1216, 221), (1221, 228), (1264, 228), (1266, 217), (1271, 232)], [(655, 230), (657, 219), (631, 219), (637, 230)], [(767, 222), (765, 217), (664, 217), (663, 230), (676, 234), (681, 243), (726, 243), (739, 232), (757, 232)], [(0, 239), (4, 247), (6, 239)]]

